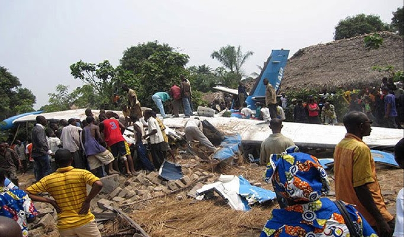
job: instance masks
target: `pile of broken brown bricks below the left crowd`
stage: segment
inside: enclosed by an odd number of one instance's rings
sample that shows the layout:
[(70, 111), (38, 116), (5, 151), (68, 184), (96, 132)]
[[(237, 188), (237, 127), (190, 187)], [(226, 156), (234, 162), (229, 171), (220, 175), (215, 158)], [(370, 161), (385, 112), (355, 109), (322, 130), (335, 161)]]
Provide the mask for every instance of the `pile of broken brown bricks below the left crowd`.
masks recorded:
[[(132, 177), (124, 177), (118, 174), (101, 178), (103, 189), (91, 201), (90, 210), (95, 215), (98, 228), (103, 236), (108, 236), (111, 229), (116, 229), (117, 213), (111, 210), (116, 208), (124, 213), (131, 214), (136, 210), (144, 208), (144, 202), (165, 196), (173, 195), (177, 200), (187, 198), (187, 191), (192, 188), (202, 187), (204, 184), (214, 182), (216, 174), (207, 172), (196, 166), (201, 159), (197, 156), (178, 155), (181, 158), (182, 171), (184, 176), (179, 180), (164, 180), (159, 177), (158, 172), (139, 171)], [(187, 159), (188, 158), (188, 159)], [(88, 191), (90, 187), (88, 186)], [(49, 197), (44, 194), (44, 197)], [(59, 236), (56, 228), (57, 213), (47, 203), (35, 203), (38, 218), (29, 226), (32, 236)], [(120, 224), (120, 223), (119, 223)], [(129, 236), (133, 236), (132, 232)], [(123, 236), (123, 235), (122, 235)]]

